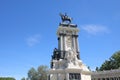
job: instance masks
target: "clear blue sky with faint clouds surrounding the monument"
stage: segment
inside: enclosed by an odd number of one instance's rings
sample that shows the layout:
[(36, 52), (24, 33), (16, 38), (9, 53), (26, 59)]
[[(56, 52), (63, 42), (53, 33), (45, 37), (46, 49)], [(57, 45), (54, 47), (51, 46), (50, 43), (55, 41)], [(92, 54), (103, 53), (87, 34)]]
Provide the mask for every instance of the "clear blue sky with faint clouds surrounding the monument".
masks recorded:
[(77, 24), (80, 57), (93, 70), (120, 50), (120, 0), (0, 0), (0, 76), (17, 80), (50, 65), (67, 13)]

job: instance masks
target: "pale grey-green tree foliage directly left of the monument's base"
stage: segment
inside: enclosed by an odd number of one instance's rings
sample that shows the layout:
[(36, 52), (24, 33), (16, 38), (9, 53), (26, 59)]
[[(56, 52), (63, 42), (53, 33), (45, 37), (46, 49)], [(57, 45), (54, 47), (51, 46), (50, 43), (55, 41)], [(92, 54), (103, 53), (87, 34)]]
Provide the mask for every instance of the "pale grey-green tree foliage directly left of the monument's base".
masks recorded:
[(47, 80), (48, 67), (41, 65), (38, 69), (31, 68), (28, 71), (29, 80)]

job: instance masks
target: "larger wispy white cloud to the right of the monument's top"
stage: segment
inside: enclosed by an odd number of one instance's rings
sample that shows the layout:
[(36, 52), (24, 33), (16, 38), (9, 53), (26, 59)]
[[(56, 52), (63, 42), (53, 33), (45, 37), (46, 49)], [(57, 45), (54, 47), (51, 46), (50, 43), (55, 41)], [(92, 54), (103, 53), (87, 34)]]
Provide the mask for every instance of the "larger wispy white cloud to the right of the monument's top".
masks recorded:
[(109, 33), (109, 29), (101, 25), (83, 25), (82, 29), (91, 35)]

